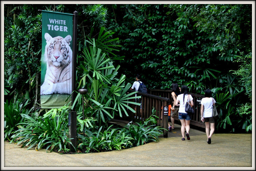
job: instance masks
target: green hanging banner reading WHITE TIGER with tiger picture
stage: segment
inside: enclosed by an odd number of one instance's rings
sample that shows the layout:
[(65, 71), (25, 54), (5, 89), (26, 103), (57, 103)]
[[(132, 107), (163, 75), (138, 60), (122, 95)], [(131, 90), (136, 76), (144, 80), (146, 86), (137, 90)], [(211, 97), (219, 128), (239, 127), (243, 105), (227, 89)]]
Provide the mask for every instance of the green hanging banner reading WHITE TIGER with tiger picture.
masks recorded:
[(42, 10), (42, 109), (71, 105), (73, 14)]

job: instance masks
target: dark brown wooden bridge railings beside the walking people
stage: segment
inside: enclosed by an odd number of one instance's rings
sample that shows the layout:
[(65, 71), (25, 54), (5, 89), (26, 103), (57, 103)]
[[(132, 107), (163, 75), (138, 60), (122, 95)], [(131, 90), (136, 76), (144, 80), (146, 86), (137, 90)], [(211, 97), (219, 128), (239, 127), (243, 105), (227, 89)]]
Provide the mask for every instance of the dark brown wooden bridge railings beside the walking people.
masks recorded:
[[(129, 92), (134, 92), (134, 90), (129, 90)], [(137, 118), (140, 120), (146, 120), (149, 118), (149, 116), (152, 114), (152, 109), (155, 109), (155, 114), (159, 117), (157, 120), (157, 126), (161, 126), (168, 130), (168, 115), (164, 115), (162, 111), (163, 106), (168, 106), (171, 104), (173, 106), (173, 98), (171, 96), (171, 90), (161, 90), (161, 89), (152, 89), (148, 90), (148, 93), (136, 93), (137, 96), (141, 96), (138, 103), (142, 102), (142, 109), (140, 110), (140, 107), (133, 104), (128, 104), (132, 109), (135, 109), (136, 112), (133, 113), (132, 111), (128, 110), (129, 118)], [(195, 125), (198, 127), (205, 128), (205, 124), (201, 121), (201, 99), (204, 98), (203, 95), (193, 94), (189, 93), (193, 97), (194, 102), (194, 115), (191, 116), (191, 125)], [(135, 94), (134, 94), (135, 96)], [(132, 101), (135, 101), (135, 99), (132, 99)], [(160, 119), (162, 118), (162, 120)], [(178, 115), (174, 116), (175, 120), (179, 120)], [(164, 137), (167, 137), (168, 132), (163, 132)]]

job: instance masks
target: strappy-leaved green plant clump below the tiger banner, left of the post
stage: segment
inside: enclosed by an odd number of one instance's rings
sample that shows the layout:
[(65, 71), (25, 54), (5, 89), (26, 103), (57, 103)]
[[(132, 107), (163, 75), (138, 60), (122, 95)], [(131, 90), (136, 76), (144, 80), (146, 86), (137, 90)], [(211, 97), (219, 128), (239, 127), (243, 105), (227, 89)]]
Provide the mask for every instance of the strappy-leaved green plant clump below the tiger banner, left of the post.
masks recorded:
[(21, 147), (28, 147), (27, 150), (34, 147), (36, 150), (50, 148), (50, 152), (55, 149), (69, 151), (68, 143), (73, 146), (71, 138), (68, 138), (69, 110), (67, 106), (51, 109), (43, 117), (23, 114), (24, 120), (19, 123), (19, 130), (12, 135), (12, 141), (17, 141)]

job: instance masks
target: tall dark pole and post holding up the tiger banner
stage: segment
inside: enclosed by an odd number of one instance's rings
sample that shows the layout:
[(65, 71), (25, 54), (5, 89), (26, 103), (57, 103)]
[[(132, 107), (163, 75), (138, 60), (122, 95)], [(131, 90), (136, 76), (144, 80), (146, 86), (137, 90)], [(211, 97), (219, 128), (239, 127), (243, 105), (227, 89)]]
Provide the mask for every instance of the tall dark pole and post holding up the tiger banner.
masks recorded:
[[(75, 81), (76, 81), (76, 58), (77, 58), (77, 16), (78, 12), (73, 12), (73, 57), (72, 57), (72, 102), (71, 105), (73, 105), (73, 101), (75, 98)], [(69, 138), (71, 139), (71, 143), (74, 145), (76, 149), (76, 135), (77, 135), (77, 114), (74, 109), (71, 111), (71, 118), (70, 118), (70, 126), (69, 126)], [(68, 145), (69, 149), (73, 151), (73, 147), (71, 144)]]

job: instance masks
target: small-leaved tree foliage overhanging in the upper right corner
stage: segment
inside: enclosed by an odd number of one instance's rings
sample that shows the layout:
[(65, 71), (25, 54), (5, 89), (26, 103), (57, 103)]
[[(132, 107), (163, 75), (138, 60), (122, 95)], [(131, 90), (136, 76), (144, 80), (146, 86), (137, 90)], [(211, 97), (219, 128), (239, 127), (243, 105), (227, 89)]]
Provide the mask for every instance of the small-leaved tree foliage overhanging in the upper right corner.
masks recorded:
[[(216, 40), (213, 46), (214, 51), (220, 51), (219, 60), (233, 61), (237, 52), (249, 45), (246, 36), (250, 39), (251, 28), (246, 28), (250, 23), (251, 5), (243, 4), (191, 4), (191, 5), (170, 5), (170, 9), (177, 8), (178, 18), (191, 18), (201, 32), (209, 33), (212, 40)], [(217, 34), (216, 34), (217, 33)], [(235, 44), (235, 45), (234, 45)], [(249, 45), (251, 46), (251, 45)], [(235, 53), (234, 53), (235, 52)]]

